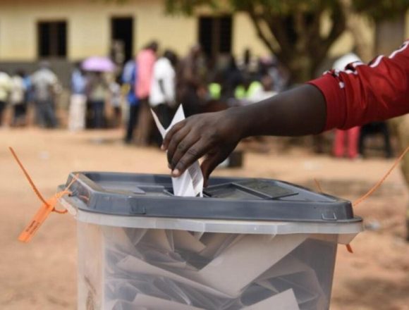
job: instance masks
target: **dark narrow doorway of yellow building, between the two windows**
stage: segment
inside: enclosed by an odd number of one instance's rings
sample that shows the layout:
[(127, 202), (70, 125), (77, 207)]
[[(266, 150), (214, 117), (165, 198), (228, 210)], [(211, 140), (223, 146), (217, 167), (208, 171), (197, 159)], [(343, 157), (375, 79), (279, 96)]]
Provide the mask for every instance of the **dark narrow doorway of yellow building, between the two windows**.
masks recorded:
[(113, 58), (123, 58), (120, 62), (126, 62), (133, 58), (133, 18), (120, 17), (111, 19), (111, 50), (115, 54)]

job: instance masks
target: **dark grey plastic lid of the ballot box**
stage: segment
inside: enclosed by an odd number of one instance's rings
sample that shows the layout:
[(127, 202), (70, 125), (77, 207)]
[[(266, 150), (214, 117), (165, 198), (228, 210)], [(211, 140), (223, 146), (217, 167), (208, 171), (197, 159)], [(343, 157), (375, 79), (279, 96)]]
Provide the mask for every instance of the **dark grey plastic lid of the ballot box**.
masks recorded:
[[(204, 197), (176, 197), (169, 175), (71, 173), (68, 202), (81, 211), (120, 216), (245, 221), (362, 221), (350, 202), (269, 179), (211, 178)], [(60, 188), (65, 187), (61, 185)]]

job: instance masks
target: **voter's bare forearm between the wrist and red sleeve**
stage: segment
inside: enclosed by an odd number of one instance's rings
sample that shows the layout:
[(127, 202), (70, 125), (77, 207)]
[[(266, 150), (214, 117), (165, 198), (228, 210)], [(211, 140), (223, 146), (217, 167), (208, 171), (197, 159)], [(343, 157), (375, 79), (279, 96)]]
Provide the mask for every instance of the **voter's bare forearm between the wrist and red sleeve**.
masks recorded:
[(240, 114), (242, 137), (312, 135), (322, 132), (326, 123), (324, 96), (312, 85), (282, 92), (231, 113)]

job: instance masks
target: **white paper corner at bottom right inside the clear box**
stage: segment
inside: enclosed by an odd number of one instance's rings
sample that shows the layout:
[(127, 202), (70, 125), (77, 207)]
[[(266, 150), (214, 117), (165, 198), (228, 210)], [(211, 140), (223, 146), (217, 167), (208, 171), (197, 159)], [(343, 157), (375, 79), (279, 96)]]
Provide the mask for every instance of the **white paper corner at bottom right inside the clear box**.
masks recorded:
[(279, 294), (275, 294), (270, 298), (264, 299), (262, 302), (246, 306), (244, 309), (248, 310), (300, 310), (297, 299), (292, 289), (286, 290)]

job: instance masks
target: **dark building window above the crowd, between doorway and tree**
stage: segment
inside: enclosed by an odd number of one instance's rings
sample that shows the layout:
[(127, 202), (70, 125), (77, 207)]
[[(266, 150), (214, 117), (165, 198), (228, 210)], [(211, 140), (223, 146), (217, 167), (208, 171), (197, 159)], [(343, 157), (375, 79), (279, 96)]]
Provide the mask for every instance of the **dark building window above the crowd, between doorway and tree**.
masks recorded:
[(231, 53), (231, 16), (199, 18), (199, 42), (209, 57)]

